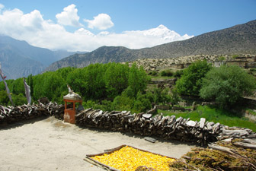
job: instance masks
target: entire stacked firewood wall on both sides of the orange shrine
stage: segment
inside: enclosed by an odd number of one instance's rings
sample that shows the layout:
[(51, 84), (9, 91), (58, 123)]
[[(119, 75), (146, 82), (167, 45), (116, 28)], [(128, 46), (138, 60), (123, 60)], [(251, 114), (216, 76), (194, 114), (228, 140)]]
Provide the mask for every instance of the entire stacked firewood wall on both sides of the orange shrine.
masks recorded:
[[(40, 116), (55, 116), (63, 119), (64, 106), (57, 103), (22, 106), (0, 106), (0, 125), (34, 119)], [(149, 113), (131, 114), (130, 111), (104, 112), (85, 109), (75, 116), (80, 127), (102, 128), (111, 131), (130, 132), (137, 135), (165, 138), (205, 145), (213, 141), (231, 137), (256, 138), (248, 128), (229, 128), (214, 122), (200, 122), (175, 116), (152, 116)]]

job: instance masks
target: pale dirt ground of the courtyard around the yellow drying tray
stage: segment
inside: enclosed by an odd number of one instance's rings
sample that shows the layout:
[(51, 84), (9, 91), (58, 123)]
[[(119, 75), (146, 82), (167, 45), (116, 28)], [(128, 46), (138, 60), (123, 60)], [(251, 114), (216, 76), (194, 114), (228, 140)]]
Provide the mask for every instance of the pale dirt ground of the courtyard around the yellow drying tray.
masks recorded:
[(176, 158), (194, 147), (178, 141), (151, 143), (136, 135), (78, 128), (50, 117), (0, 128), (0, 170), (104, 170), (83, 160), (86, 154), (102, 153), (122, 144)]

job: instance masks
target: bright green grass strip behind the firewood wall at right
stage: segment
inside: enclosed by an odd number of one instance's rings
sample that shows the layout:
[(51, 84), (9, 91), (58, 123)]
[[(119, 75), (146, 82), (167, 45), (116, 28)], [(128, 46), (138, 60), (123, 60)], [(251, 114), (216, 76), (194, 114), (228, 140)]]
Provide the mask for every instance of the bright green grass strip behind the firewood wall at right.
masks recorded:
[(200, 118), (205, 118), (209, 122), (219, 122), (223, 125), (238, 126), (242, 128), (250, 128), (256, 132), (256, 123), (248, 121), (245, 117), (238, 116), (232, 112), (228, 112), (224, 109), (216, 109), (213, 106), (198, 106), (196, 111), (193, 112), (170, 112), (165, 110), (158, 110), (158, 113), (162, 112), (164, 116), (175, 115), (176, 118), (190, 118), (190, 120), (200, 121)]

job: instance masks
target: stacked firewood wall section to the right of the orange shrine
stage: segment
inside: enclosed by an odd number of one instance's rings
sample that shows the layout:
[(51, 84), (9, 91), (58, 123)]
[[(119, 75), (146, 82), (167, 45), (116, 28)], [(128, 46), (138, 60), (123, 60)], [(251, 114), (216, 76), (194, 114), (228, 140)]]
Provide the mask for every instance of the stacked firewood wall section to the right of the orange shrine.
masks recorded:
[(162, 114), (155, 117), (149, 113), (132, 115), (127, 111), (104, 112), (99, 109), (86, 109), (76, 116), (76, 124), (81, 127), (130, 132), (201, 145), (235, 136), (256, 138), (256, 134), (248, 128), (229, 128), (219, 123), (206, 122), (203, 118), (197, 122)]

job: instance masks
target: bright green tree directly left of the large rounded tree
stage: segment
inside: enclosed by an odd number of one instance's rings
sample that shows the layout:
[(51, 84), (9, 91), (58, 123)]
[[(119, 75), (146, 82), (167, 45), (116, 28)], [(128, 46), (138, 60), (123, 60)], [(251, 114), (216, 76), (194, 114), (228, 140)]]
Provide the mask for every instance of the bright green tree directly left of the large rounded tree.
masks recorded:
[(211, 68), (206, 61), (198, 61), (184, 69), (181, 79), (176, 83), (178, 93), (198, 96), (203, 78)]

